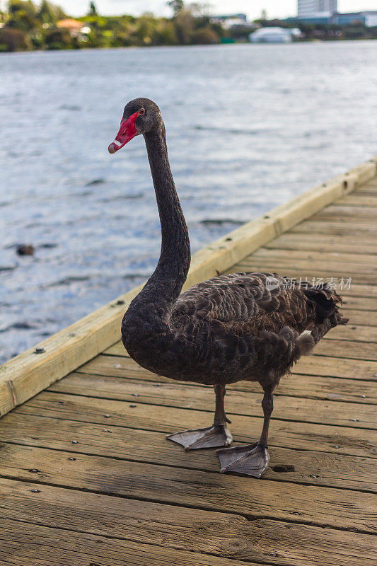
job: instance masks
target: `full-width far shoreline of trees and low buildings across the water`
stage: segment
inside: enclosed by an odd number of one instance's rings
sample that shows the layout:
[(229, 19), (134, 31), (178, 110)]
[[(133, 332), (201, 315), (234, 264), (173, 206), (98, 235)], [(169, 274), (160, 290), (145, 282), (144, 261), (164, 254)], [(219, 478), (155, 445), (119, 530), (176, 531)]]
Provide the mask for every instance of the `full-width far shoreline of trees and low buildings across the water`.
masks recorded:
[[(170, 18), (143, 16), (102, 16), (93, 1), (88, 13), (75, 18), (48, 0), (35, 4), (33, 0), (8, 0), (0, 11), (0, 52), (23, 50), (81, 49), (83, 47), (141, 47), (148, 45), (195, 45), (219, 43), (221, 40), (248, 40), (253, 25), (245, 23), (231, 29), (210, 17), (205, 1), (185, 3), (170, 0)], [(79, 24), (77, 24), (79, 22)], [(80, 25), (81, 24), (81, 25)], [(377, 27), (366, 28), (361, 23), (325, 25), (284, 20), (268, 20), (265, 10), (255, 27), (280, 26), (301, 29), (300, 40), (349, 40), (377, 38)]]

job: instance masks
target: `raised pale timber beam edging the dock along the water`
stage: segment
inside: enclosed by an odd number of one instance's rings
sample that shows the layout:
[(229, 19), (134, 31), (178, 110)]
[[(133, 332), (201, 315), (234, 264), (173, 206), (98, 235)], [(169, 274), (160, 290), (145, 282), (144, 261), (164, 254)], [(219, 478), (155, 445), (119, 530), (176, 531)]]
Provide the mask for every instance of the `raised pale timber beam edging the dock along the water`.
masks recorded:
[[(227, 270), (246, 253), (254, 251), (327, 204), (352, 192), (375, 175), (376, 159), (373, 159), (346, 175), (339, 175), (329, 183), (282, 204), (260, 219), (240, 226), (193, 256), (184, 289), (213, 277), (216, 270)], [(30, 349), (3, 364), (0, 367), (0, 415), (114, 344), (120, 336), (120, 321), (124, 310), (139, 289), (140, 287), (129, 291), (118, 301), (113, 301), (41, 342), (39, 347), (45, 350), (43, 353), (35, 354), (34, 349)]]

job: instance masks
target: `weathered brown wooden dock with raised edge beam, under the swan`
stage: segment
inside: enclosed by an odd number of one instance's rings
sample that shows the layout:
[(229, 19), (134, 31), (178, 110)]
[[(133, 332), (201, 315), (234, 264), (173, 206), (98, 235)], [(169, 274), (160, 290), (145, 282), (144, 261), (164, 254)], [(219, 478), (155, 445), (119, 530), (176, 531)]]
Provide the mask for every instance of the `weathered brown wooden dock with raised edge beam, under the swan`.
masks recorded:
[[(349, 324), (277, 388), (261, 480), (166, 440), (210, 424), (214, 395), (127, 357), (136, 290), (0, 366), (0, 565), (376, 565), (376, 215), (372, 160), (192, 262), (189, 285), (276, 271), (332, 277), (345, 298)], [(259, 435), (261, 398), (257, 383), (228, 386), (235, 444)]]

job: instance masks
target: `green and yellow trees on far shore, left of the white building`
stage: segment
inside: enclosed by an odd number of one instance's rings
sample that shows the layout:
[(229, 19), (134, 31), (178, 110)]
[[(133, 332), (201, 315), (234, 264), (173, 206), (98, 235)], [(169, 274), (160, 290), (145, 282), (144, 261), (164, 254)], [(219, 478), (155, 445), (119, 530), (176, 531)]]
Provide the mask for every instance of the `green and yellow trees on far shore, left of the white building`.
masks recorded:
[(135, 18), (102, 16), (92, 1), (86, 16), (75, 18), (82, 30), (72, 30), (62, 27), (69, 16), (47, 0), (39, 6), (33, 0), (9, 0), (6, 11), (0, 12), (0, 51), (211, 44), (226, 35), (221, 25), (211, 22), (205, 3), (167, 4), (171, 18), (151, 13)]

